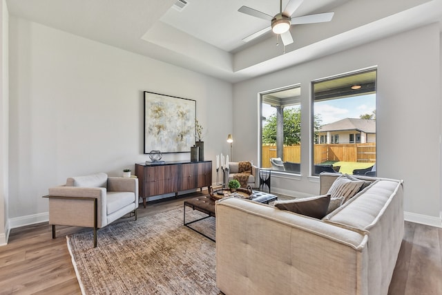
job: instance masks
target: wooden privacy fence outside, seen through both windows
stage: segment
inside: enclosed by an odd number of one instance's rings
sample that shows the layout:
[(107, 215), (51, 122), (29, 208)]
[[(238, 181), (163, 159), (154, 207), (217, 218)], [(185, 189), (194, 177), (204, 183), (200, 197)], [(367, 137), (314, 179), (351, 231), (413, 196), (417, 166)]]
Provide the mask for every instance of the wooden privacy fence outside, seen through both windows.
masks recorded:
[[(301, 162), (300, 145), (284, 146), (284, 161)], [(276, 158), (276, 146), (262, 146), (262, 167), (270, 168), (270, 158)], [(315, 144), (315, 164), (327, 161), (376, 162), (376, 144)]]

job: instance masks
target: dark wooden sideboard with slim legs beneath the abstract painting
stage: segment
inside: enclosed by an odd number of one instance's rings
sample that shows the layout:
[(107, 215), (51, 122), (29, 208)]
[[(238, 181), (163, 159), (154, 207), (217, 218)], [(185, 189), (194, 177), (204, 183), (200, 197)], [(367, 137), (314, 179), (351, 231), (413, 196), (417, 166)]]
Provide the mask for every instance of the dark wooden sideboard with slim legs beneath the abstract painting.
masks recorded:
[(135, 164), (140, 198), (146, 208), (146, 198), (212, 185), (212, 161), (165, 162)]

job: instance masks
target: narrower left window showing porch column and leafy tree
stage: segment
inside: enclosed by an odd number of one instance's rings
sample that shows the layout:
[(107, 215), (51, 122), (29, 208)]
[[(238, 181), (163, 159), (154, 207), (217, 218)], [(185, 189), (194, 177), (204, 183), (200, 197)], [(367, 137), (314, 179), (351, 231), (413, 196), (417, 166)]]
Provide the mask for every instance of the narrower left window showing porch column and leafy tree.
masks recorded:
[(300, 173), (300, 85), (261, 93), (261, 166)]

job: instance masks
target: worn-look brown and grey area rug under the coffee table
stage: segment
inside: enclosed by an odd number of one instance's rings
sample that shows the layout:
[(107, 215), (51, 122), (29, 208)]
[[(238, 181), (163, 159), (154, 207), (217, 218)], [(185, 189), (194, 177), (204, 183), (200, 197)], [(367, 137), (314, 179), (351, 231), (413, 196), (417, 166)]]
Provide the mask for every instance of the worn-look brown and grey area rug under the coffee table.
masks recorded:
[[(186, 221), (202, 213), (186, 208)], [(67, 236), (82, 294), (219, 294), (215, 243), (183, 226), (183, 209)], [(214, 236), (215, 219), (195, 222)]]

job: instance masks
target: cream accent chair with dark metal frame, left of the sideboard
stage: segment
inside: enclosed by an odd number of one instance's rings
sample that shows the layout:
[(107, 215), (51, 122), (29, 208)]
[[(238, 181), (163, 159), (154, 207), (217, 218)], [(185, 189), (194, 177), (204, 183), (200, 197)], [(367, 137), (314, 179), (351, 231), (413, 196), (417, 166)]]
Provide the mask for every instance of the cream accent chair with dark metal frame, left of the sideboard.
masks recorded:
[(137, 220), (138, 179), (114, 178), (106, 173), (68, 178), (66, 184), (49, 189), (49, 224), (97, 229), (133, 212)]

